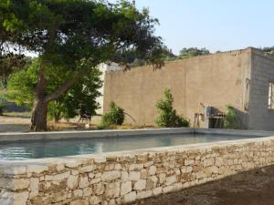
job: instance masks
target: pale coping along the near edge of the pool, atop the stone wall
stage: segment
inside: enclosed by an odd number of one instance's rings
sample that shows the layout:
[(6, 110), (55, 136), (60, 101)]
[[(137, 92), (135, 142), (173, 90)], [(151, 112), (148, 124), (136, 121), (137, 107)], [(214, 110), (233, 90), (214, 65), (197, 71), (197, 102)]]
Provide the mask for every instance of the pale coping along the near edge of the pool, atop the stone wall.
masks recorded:
[[(152, 153), (163, 153), (166, 151), (170, 152), (183, 152), (189, 149), (212, 149), (214, 147), (226, 147), (233, 145), (241, 145), (255, 142), (264, 142), (274, 140), (274, 136), (262, 137), (262, 138), (244, 138), (244, 139), (234, 139), (226, 141), (215, 141), (215, 142), (205, 142), (196, 143), (188, 145), (178, 145), (170, 147), (160, 147), (160, 148), (150, 148), (150, 149), (134, 149), (134, 150), (123, 150), (123, 151), (113, 151), (104, 152), (100, 154), (88, 154), (88, 155), (73, 155), (57, 158), (43, 158), (43, 159), (26, 159), (26, 160), (0, 160), (0, 175), (4, 170), (4, 174), (10, 174), (11, 169), (26, 168), (26, 167), (39, 167), (47, 166), (50, 164), (67, 164), (67, 163), (79, 163), (84, 164), (87, 159), (93, 159), (96, 163), (102, 163), (107, 161), (107, 158), (115, 157), (127, 157), (135, 155), (146, 155)], [(2, 171), (1, 171), (2, 170)], [(6, 172), (7, 171), (7, 172)], [(13, 171), (12, 171), (13, 172)]]

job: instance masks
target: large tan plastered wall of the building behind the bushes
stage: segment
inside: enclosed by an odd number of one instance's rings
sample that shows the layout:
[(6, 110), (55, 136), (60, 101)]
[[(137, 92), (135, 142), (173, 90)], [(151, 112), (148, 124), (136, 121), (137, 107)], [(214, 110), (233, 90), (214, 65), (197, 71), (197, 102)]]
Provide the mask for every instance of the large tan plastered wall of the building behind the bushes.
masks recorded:
[[(155, 104), (163, 97), (165, 87), (174, 95), (174, 108), (194, 121), (200, 106), (213, 106), (225, 111), (230, 104), (239, 110), (243, 128), (247, 128), (248, 102), (246, 78), (251, 67), (251, 49), (208, 56), (197, 56), (166, 62), (161, 70), (136, 67), (131, 71), (108, 72), (104, 87), (104, 112), (112, 101), (124, 108), (139, 125), (153, 125), (157, 118)], [(128, 123), (132, 119), (127, 118)]]

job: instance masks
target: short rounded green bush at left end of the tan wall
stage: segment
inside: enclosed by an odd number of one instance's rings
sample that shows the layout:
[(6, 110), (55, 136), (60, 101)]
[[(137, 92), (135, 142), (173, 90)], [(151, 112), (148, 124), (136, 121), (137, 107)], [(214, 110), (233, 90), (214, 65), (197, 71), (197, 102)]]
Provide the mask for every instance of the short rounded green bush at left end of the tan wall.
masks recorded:
[(110, 110), (102, 116), (101, 126), (121, 125), (124, 117), (124, 110), (111, 102)]

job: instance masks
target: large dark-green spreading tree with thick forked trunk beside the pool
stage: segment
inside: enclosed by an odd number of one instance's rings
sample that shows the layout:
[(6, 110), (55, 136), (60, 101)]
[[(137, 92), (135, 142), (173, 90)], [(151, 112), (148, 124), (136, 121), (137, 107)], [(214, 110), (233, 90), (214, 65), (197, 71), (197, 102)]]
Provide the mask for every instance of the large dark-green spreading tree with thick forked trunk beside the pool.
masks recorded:
[[(109, 4), (89, 0), (3, 0), (0, 16), (5, 42), (39, 55), (33, 130), (47, 129), (49, 102), (64, 94), (92, 67), (110, 60), (118, 50), (134, 48), (156, 68), (162, 65), (157, 57), (161, 39), (153, 36), (157, 19), (127, 1)], [(68, 74), (51, 93), (47, 92), (47, 67)]]

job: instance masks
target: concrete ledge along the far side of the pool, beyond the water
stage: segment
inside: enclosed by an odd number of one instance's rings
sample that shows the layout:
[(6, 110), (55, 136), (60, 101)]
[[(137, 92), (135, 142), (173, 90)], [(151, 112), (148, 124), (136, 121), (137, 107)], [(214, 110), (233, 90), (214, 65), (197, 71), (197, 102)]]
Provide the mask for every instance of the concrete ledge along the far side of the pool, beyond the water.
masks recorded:
[(121, 130), (92, 130), (92, 131), (59, 131), (59, 132), (16, 132), (0, 133), (1, 142), (64, 139), (64, 138), (111, 138), (127, 136), (171, 135), (171, 134), (210, 134), (237, 136), (274, 136), (273, 131), (237, 130), (237, 129), (206, 129), (206, 128), (145, 128)]

